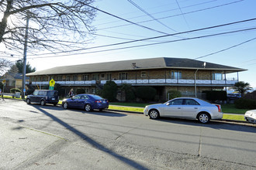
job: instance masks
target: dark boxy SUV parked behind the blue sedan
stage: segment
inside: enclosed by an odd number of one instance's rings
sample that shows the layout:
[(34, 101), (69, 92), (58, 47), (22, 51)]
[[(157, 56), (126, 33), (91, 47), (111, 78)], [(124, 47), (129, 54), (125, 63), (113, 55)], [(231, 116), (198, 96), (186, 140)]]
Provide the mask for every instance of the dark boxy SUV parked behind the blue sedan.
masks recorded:
[(26, 97), (26, 103), (38, 103), (42, 106), (45, 104), (57, 105), (59, 102), (58, 92), (56, 90), (35, 90), (33, 94)]

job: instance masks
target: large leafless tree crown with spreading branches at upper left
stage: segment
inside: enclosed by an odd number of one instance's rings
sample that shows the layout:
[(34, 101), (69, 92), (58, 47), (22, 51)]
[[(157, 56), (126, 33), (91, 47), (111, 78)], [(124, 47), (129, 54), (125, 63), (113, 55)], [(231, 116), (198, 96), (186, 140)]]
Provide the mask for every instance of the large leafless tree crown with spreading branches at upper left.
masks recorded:
[[(0, 45), (22, 53), (29, 17), (29, 52), (77, 49), (94, 31), (94, 0), (0, 0)], [(2, 49), (0, 50), (2, 51)], [(5, 51), (2, 51), (5, 53)]]

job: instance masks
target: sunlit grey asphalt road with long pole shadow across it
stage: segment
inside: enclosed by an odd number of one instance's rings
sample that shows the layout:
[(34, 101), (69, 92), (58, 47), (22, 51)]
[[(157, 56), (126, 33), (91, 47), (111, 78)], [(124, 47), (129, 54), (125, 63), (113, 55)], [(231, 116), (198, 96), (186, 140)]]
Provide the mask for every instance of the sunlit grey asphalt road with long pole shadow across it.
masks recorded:
[(0, 100), (0, 169), (256, 169), (256, 126)]

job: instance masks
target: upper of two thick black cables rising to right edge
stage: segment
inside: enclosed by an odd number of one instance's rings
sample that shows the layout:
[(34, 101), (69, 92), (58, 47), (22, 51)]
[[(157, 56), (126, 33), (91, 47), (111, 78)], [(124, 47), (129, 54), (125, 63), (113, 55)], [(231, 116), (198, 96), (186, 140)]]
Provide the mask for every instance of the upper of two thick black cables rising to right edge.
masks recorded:
[[(103, 45), (103, 46), (93, 46), (90, 48), (83, 48), (83, 49), (74, 49), (74, 50), (58, 52), (58, 53), (70, 53), (70, 52), (77, 52), (77, 51), (81, 51), (81, 50), (96, 49), (96, 48), (109, 47), (109, 46), (119, 46), (119, 45), (132, 43), (132, 42), (142, 42), (142, 41), (146, 41), (146, 40), (150, 40), (150, 39), (160, 39), (160, 38), (164, 38), (164, 37), (168, 37), (168, 36), (176, 36), (176, 35), (190, 33), (190, 32), (198, 32), (198, 31), (202, 31), (202, 30), (206, 30), (206, 29), (215, 29), (215, 28), (219, 28), (219, 27), (223, 27), (223, 26), (230, 26), (230, 25), (243, 23), (243, 22), (251, 22), (254, 20), (256, 20), (256, 18), (246, 19), (246, 20), (242, 20), (242, 21), (238, 21), (238, 22), (230, 22), (230, 23), (226, 23), (226, 24), (222, 24), (222, 25), (218, 25), (218, 26), (209, 26), (209, 27), (205, 27), (202, 29), (193, 29), (193, 30), (189, 30), (189, 31), (185, 31), (185, 32), (178, 32), (178, 33), (168, 34), (168, 35), (164, 35), (164, 36), (154, 36), (154, 37), (145, 38), (145, 39), (137, 39), (137, 40), (127, 41), (127, 42), (118, 42), (118, 43), (113, 43), (113, 44)], [(52, 54), (52, 53), (37, 54), (36, 56), (43, 56), (43, 55), (49, 55), (49, 54)], [(35, 55), (29, 55), (29, 56), (35, 56)]]

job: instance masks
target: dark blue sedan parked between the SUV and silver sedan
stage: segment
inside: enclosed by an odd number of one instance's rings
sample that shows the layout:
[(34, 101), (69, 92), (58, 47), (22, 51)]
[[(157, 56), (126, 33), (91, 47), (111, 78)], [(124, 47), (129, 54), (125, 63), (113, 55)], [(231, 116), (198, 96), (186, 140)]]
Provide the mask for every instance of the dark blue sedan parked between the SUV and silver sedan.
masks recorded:
[(81, 93), (69, 99), (62, 101), (62, 107), (67, 109), (68, 107), (82, 108), (85, 111), (91, 111), (94, 109), (104, 110), (109, 108), (109, 100), (94, 94)]

